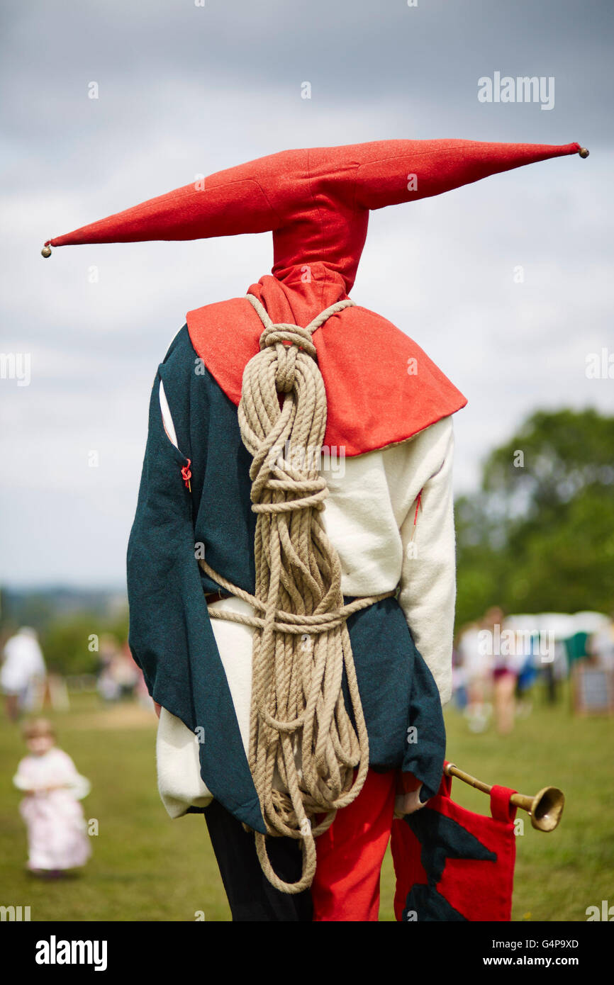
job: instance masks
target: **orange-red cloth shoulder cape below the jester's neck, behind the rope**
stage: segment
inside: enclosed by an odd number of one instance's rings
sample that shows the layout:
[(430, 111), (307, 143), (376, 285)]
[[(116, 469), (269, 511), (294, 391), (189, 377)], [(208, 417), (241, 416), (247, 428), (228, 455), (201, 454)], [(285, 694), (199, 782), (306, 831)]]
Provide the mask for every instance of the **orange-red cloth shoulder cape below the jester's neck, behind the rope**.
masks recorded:
[[(188, 311), (186, 323), (194, 352), (239, 406), (262, 332), (254, 308), (233, 297)], [(360, 304), (332, 315), (313, 342), (328, 399), (324, 444), (346, 455), (405, 441), (467, 403), (413, 339)]]

